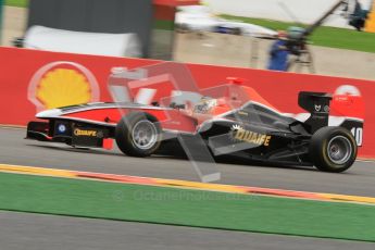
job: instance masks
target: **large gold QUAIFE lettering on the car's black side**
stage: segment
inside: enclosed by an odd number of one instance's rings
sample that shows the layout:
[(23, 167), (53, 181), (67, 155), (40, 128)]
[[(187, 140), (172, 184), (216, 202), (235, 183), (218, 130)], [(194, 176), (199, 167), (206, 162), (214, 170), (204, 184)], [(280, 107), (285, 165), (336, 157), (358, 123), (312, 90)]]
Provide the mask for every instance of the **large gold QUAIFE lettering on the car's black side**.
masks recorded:
[(270, 146), (270, 141), (272, 139), (272, 136), (261, 134), (261, 133), (255, 133), (251, 130), (243, 129), (239, 125), (234, 125), (233, 126), (233, 133), (234, 133), (234, 139), (240, 140), (240, 141), (246, 141), (249, 143), (254, 143), (259, 146)]

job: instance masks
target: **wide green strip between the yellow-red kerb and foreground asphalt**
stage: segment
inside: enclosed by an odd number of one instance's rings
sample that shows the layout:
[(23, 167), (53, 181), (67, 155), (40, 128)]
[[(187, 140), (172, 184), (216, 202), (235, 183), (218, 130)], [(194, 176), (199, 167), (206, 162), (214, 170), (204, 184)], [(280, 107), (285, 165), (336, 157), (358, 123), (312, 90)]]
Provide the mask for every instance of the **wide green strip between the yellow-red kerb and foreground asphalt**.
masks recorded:
[(375, 207), (0, 173), (0, 209), (375, 241)]

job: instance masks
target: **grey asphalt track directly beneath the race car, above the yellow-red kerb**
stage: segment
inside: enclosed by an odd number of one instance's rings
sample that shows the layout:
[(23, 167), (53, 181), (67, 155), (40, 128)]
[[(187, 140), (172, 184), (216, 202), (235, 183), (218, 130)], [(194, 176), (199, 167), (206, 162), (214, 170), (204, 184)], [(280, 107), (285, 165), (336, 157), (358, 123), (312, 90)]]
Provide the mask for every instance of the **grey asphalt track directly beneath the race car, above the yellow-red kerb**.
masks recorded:
[[(64, 145), (24, 140), (24, 129), (0, 128), (0, 163), (110, 174), (199, 180), (189, 161), (152, 157), (129, 158), (117, 149), (78, 150)], [(375, 163), (357, 162), (342, 174), (314, 168), (217, 164), (220, 183), (300, 191), (375, 196)]]

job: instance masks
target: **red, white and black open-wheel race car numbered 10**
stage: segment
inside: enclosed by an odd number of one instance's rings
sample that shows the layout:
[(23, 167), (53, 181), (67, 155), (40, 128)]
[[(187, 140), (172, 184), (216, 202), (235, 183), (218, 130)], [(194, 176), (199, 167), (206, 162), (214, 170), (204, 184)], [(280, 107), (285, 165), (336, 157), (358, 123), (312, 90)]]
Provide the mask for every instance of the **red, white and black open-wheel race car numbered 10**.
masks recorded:
[[(42, 111), (36, 117), (46, 122), (28, 123), (26, 138), (107, 149), (115, 140), (122, 152), (139, 158), (171, 143), (188, 145), (184, 149), (190, 155), (202, 152), (193, 149), (203, 143), (213, 158), (314, 165), (335, 173), (354, 163), (364, 123), (360, 97), (301, 91), (298, 104), (309, 112), (301, 120), (279, 112), (243, 79), (228, 80), (199, 93), (196, 102), (157, 95), (149, 104), (133, 99)], [(145, 96), (150, 88), (137, 91)]]

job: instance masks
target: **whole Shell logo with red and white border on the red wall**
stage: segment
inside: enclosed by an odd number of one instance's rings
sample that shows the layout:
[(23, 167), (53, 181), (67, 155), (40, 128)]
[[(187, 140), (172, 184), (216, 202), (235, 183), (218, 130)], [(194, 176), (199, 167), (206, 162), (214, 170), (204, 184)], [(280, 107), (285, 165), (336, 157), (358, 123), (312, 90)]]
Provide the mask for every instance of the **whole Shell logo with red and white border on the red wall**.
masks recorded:
[(53, 62), (33, 76), (28, 99), (37, 112), (99, 101), (99, 86), (90, 71), (73, 62)]

